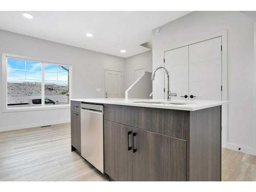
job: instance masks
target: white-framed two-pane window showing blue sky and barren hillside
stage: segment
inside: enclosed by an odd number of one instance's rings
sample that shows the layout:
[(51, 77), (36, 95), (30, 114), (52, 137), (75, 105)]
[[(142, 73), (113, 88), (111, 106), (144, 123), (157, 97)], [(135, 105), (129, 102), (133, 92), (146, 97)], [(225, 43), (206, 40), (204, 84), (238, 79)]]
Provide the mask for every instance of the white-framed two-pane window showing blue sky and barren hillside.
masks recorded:
[(69, 104), (69, 66), (6, 59), (7, 108)]

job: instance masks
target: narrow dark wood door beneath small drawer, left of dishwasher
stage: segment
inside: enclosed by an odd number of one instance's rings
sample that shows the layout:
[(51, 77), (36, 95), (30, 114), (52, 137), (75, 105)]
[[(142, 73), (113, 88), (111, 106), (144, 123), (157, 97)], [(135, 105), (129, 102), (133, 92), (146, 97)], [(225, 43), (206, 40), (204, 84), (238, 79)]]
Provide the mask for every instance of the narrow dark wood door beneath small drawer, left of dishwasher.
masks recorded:
[(71, 145), (81, 152), (81, 122), (80, 113), (71, 111)]

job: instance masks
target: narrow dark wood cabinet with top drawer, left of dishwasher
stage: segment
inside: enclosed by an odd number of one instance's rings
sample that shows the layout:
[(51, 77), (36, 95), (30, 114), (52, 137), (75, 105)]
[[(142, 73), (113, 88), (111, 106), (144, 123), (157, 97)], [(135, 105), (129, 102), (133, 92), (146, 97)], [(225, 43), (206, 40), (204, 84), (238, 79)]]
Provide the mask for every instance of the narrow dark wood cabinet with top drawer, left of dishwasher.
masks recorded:
[(71, 110), (71, 151), (81, 154), (81, 114), (78, 110), (80, 104), (77, 105), (77, 102), (71, 101), (71, 109), (76, 109), (76, 111)]

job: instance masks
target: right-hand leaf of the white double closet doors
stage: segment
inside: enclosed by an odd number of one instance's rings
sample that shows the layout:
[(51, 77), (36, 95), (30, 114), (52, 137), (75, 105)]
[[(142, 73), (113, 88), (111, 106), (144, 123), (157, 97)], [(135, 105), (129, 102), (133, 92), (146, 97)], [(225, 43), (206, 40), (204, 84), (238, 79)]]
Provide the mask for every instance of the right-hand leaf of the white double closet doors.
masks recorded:
[(189, 97), (221, 100), (221, 37), (189, 45)]

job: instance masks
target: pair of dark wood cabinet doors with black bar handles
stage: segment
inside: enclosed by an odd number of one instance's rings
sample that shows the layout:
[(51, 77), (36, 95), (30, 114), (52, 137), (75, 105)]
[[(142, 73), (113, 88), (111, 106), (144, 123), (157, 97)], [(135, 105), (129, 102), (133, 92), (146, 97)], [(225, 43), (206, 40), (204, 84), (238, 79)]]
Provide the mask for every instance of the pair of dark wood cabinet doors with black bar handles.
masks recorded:
[(105, 120), (104, 149), (105, 172), (116, 181), (186, 180), (184, 140)]

